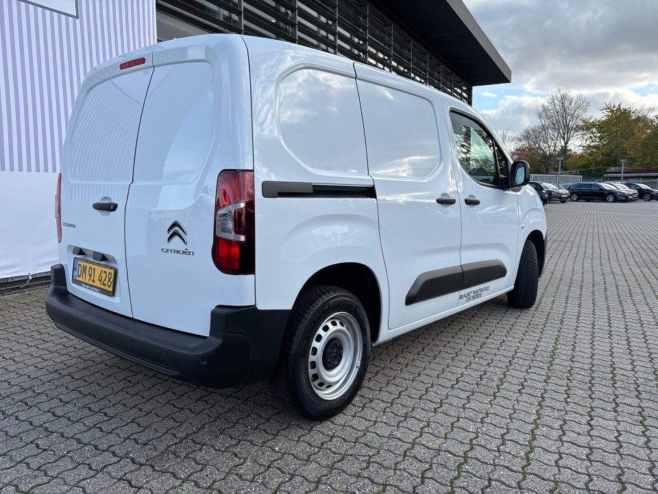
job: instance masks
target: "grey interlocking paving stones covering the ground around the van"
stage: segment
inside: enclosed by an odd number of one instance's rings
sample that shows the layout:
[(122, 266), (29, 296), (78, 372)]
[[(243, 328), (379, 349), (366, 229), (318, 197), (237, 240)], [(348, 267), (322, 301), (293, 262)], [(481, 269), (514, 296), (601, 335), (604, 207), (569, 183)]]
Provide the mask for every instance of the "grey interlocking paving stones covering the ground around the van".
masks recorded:
[(640, 493), (658, 487), (658, 203), (549, 204), (533, 309), (504, 296), (376, 346), (312, 423), (56, 329), (0, 296), (0, 493)]

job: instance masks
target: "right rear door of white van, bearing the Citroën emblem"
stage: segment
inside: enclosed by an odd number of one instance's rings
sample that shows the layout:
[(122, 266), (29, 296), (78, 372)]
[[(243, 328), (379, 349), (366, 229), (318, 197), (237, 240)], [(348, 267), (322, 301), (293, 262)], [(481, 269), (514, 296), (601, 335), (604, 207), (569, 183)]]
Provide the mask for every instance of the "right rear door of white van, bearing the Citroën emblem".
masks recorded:
[(125, 217), (134, 318), (207, 336), (217, 305), (255, 305), (254, 274), (212, 260), (217, 177), (253, 169), (247, 48), (237, 35), (154, 50)]

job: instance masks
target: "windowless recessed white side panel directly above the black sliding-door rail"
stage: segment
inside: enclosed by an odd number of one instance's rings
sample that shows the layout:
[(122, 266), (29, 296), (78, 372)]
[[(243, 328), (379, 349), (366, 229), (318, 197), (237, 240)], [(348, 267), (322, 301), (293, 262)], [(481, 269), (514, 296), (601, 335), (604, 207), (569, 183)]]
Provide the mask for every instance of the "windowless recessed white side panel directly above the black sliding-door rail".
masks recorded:
[(367, 174), (356, 80), (300, 69), (278, 86), (277, 117), (289, 152), (310, 168)]

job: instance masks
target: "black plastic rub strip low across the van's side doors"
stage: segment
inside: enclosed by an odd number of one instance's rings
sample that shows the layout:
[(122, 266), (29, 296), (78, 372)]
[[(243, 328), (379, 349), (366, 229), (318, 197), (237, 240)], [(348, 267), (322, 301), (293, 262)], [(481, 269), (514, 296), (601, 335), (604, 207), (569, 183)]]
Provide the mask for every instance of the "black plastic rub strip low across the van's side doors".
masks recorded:
[(507, 268), (498, 259), (452, 266), (421, 274), (406, 294), (405, 305), (448, 295), (507, 276)]

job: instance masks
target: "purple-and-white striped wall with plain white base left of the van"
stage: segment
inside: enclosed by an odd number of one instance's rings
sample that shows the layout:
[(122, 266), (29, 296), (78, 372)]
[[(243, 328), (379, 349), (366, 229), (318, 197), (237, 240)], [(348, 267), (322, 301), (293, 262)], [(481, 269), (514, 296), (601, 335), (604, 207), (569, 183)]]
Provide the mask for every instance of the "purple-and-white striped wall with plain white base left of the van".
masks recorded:
[(55, 185), (82, 78), (155, 42), (155, 0), (0, 1), (0, 282), (56, 262)]

